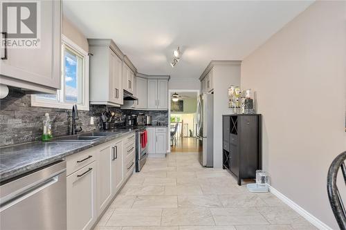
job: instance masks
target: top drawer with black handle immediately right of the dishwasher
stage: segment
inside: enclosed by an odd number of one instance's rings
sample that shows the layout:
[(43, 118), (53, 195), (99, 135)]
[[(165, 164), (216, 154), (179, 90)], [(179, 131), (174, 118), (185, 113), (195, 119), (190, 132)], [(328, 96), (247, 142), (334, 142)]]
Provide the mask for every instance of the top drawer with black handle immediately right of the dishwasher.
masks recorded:
[(66, 157), (66, 175), (70, 175), (95, 161), (95, 149), (89, 148)]

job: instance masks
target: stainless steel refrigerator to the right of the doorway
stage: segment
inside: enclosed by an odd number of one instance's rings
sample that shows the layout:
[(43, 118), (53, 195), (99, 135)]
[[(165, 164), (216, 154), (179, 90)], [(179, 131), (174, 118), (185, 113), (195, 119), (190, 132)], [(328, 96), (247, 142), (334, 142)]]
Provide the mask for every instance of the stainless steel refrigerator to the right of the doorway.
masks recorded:
[(197, 140), (199, 162), (202, 166), (213, 166), (213, 113), (214, 95), (203, 93), (197, 100)]

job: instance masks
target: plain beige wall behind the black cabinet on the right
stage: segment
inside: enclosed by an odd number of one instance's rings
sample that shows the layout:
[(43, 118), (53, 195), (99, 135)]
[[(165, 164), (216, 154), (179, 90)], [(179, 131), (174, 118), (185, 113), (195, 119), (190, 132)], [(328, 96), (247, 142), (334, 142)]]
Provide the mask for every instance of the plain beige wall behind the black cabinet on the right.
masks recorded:
[(346, 149), (345, 43), (346, 2), (317, 1), (242, 62), (272, 186), (332, 229), (326, 177)]

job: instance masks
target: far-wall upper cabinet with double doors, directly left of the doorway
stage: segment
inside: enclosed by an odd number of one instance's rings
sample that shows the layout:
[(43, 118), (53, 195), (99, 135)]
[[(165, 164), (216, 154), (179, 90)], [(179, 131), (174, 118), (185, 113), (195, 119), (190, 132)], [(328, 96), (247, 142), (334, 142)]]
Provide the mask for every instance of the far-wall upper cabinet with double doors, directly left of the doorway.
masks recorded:
[(147, 106), (150, 109), (168, 108), (168, 80), (166, 79), (148, 79), (148, 101)]

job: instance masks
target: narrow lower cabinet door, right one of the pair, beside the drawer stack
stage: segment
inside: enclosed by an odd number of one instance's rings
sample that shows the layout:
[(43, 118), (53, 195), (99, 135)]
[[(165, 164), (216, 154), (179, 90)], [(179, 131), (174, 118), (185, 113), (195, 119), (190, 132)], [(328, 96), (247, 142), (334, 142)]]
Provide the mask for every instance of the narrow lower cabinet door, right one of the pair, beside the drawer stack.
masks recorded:
[(122, 140), (117, 141), (112, 146), (112, 181), (113, 181), (113, 195), (115, 195), (124, 180), (124, 170), (123, 170), (123, 142)]

